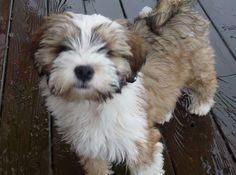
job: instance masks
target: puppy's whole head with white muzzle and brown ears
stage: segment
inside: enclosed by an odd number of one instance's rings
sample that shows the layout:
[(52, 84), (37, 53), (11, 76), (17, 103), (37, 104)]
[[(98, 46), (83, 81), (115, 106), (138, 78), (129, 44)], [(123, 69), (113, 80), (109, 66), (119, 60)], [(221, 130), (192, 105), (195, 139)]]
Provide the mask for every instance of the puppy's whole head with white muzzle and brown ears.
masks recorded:
[(101, 15), (52, 15), (33, 41), (39, 73), (53, 95), (68, 100), (111, 98), (145, 62), (142, 39)]

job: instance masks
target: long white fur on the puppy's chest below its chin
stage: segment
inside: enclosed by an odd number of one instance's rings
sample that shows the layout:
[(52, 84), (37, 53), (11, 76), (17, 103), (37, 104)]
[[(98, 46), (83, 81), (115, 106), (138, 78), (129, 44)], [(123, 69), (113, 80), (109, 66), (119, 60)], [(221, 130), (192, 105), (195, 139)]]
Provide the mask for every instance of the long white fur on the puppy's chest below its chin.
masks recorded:
[[(43, 80), (41, 87), (46, 95), (48, 89), (42, 84)], [(136, 160), (136, 144), (147, 138), (144, 98), (142, 81), (138, 78), (106, 103), (71, 103), (49, 95), (46, 105), (52, 111), (63, 139), (72, 144), (76, 153), (121, 162)]]

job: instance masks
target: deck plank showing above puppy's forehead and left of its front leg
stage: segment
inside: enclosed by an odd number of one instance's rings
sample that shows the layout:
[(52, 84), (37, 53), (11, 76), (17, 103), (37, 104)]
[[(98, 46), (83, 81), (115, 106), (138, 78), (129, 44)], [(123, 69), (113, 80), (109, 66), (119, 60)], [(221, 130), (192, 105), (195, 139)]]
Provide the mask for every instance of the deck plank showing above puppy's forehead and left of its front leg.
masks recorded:
[[(85, 13), (83, 1), (78, 0), (49, 0), (49, 15), (53, 13), (62, 13), (72, 11), (75, 13)], [(52, 120), (53, 123), (53, 120)], [(52, 153), (53, 153), (53, 174), (56, 175), (78, 175), (84, 174), (83, 168), (79, 164), (79, 158), (67, 145), (61, 141), (61, 136), (57, 133), (56, 128), (51, 128)]]

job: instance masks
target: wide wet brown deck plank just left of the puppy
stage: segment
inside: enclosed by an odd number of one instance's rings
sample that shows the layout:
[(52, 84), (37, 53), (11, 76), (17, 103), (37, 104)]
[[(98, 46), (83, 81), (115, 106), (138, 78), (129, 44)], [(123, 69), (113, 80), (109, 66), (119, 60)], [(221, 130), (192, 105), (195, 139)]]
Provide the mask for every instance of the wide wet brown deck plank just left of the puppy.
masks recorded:
[(49, 174), (48, 118), (33, 69), (30, 33), (46, 14), (44, 0), (14, 1), (0, 126), (0, 174)]

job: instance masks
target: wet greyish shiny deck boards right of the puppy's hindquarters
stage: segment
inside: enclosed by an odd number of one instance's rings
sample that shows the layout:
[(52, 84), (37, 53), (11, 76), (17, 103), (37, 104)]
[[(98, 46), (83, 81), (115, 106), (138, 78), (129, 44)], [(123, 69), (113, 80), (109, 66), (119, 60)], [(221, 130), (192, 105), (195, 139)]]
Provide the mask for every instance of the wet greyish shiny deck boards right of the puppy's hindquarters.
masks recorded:
[[(212, 43), (217, 53), (220, 88), (214, 108), (217, 124), (236, 157), (236, 1), (201, 0), (206, 15), (212, 20)], [(222, 11), (224, 9), (224, 12)], [(213, 32), (213, 30), (215, 30)], [(218, 32), (218, 33), (217, 33)], [(216, 34), (217, 33), (217, 34)], [(217, 37), (216, 35), (219, 36)], [(220, 37), (220, 38), (219, 38)], [(222, 47), (225, 45), (225, 47)], [(224, 48), (224, 49), (222, 49)]]

